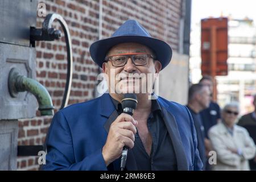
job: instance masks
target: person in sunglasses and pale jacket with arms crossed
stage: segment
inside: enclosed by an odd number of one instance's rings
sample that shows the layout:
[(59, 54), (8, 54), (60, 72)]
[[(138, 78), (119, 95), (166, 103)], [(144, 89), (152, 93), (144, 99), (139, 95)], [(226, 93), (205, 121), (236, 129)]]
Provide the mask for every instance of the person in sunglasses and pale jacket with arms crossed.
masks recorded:
[(255, 155), (255, 144), (247, 130), (236, 125), (239, 107), (228, 104), (221, 113), (222, 122), (209, 130), (209, 138), (217, 154), (215, 171), (250, 170), (248, 160)]

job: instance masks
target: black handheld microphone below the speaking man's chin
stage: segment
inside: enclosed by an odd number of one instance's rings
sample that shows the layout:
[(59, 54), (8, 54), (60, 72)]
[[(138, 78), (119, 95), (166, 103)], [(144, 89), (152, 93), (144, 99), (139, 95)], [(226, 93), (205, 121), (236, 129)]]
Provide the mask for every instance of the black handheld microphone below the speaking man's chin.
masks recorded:
[[(134, 110), (137, 107), (137, 104), (138, 104), (137, 96), (134, 93), (126, 93), (125, 97), (123, 97), (123, 100), (122, 100), (123, 113), (129, 114), (132, 116), (134, 113)], [(129, 147), (127, 146), (123, 147), (123, 151), (121, 155), (121, 164), (120, 164), (121, 171), (125, 169), (128, 149)]]

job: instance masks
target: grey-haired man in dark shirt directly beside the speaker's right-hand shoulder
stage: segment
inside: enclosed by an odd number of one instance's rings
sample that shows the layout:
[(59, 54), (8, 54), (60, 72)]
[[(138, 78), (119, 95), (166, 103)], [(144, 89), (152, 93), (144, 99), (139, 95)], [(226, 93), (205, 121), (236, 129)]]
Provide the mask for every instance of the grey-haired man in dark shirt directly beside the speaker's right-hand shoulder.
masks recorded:
[(197, 149), (199, 150), (200, 158), (203, 162), (203, 169), (207, 163), (204, 146), (204, 126), (201, 121), (200, 111), (209, 107), (210, 90), (208, 86), (201, 84), (192, 85), (188, 90), (188, 109), (191, 112), (197, 135)]

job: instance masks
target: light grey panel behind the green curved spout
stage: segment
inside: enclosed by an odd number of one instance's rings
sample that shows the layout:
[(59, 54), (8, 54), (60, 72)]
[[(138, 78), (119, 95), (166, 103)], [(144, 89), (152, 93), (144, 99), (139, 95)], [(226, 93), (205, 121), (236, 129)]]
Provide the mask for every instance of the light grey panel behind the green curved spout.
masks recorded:
[(19, 92), (14, 98), (8, 89), (11, 68), (17, 68), (24, 76), (36, 78), (35, 48), (0, 43), (0, 65), (0, 120), (35, 117), (35, 96), (29, 92)]

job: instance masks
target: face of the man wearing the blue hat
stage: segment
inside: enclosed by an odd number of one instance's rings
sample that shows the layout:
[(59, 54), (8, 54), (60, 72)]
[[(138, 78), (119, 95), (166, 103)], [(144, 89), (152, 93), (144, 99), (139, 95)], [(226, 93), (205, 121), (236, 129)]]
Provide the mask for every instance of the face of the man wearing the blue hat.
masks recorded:
[[(147, 64), (135, 65), (132, 59), (139, 60), (141, 54), (147, 54)], [(150, 81), (154, 82), (154, 73), (159, 73), (162, 67), (159, 61), (152, 59), (150, 55), (154, 56), (153, 54), (150, 48), (138, 43), (122, 43), (111, 48), (106, 55), (110, 56), (109, 60), (102, 65), (103, 72), (109, 78), (109, 92), (111, 89), (115, 93), (144, 93), (145, 88), (147, 93), (150, 92), (147, 90), (147, 84), (150, 84)], [(113, 56), (126, 56), (126, 64), (115, 67)]]

